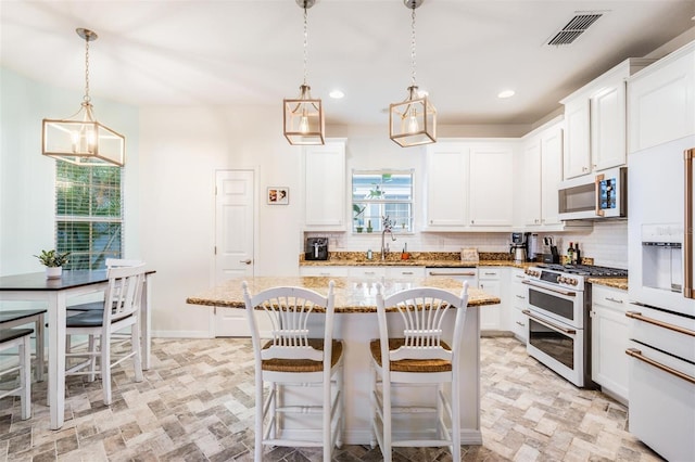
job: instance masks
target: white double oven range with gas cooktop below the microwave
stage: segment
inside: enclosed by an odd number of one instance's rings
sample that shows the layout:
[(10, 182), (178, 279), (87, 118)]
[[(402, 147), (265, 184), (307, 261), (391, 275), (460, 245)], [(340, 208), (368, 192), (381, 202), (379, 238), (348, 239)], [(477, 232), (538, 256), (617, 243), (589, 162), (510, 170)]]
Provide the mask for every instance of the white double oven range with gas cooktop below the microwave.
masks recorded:
[(527, 351), (578, 387), (591, 380), (591, 284), (587, 278), (626, 278), (627, 270), (591, 265), (543, 265), (526, 270)]

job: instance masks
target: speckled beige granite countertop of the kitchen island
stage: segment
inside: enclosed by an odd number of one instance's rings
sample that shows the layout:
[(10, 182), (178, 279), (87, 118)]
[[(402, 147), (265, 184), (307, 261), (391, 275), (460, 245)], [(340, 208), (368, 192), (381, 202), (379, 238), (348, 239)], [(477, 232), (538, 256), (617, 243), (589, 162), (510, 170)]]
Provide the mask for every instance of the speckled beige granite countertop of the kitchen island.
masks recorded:
[[(336, 312), (375, 312), (377, 310), (377, 283), (383, 283), (384, 296), (419, 286), (439, 287), (460, 295), (462, 283), (448, 278), (408, 278), (390, 280), (365, 280), (363, 278), (341, 277), (255, 277), (235, 278), (222, 284), (188, 297), (191, 305), (244, 308), (242, 281), (249, 283), (250, 293), (256, 294), (265, 288), (279, 285), (293, 285), (327, 294), (328, 282), (336, 283)], [(498, 297), (476, 288), (468, 288), (468, 306), (479, 307), (501, 303)]]

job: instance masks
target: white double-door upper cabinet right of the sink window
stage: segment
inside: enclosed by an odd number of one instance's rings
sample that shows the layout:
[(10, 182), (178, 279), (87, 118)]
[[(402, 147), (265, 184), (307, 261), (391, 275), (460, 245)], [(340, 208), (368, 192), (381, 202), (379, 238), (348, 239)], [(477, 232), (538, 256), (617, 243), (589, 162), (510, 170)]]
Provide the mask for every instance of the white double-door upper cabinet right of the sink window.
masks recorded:
[(509, 230), (517, 144), (440, 139), (428, 145), (424, 231)]

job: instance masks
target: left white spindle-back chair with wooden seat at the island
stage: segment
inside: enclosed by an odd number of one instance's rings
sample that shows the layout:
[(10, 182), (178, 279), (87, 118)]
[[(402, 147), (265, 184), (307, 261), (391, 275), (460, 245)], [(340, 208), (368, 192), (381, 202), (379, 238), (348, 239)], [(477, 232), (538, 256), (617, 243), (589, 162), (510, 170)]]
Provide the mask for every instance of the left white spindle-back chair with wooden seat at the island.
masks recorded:
[[(343, 431), (343, 343), (333, 338), (333, 282), (327, 296), (287, 286), (251, 296), (245, 281), (242, 287), (255, 360), (254, 460), (261, 462), (263, 447), (275, 445), (323, 447), (329, 462), (333, 447), (342, 446)], [(256, 313), (269, 320), (267, 339), (261, 337)], [(294, 402), (292, 387), (318, 390)], [(302, 422), (301, 437), (285, 428), (289, 419)]]

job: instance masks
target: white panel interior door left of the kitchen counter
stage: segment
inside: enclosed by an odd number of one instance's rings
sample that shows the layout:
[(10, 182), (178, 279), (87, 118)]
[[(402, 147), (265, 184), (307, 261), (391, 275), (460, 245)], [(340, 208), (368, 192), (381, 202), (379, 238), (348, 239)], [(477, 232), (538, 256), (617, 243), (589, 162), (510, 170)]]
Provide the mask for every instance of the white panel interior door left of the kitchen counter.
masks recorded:
[[(253, 170), (215, 174), (215, 284), (253, 277), (255, 184)], [(243, 309), (216, 308), (215, 336), (249, 336)]]

